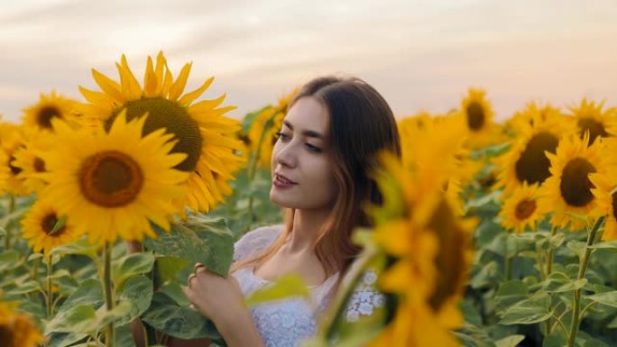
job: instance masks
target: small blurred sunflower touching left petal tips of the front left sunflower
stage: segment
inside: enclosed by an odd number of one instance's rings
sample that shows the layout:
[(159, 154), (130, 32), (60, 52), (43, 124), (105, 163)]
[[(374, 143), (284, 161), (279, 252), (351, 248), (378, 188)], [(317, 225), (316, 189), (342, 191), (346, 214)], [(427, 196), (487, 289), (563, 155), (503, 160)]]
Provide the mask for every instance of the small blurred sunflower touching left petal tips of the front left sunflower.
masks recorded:
[(16, 177), (23, 182), (23, 187), (28, 193), (38, 192), (47, 186), (47, 182), (43, 179), (47, 169), (41, 153), (50, 151), (54, 142), (51, 133), (41, 132), (37, 136), (32, 136), (30, 140), (24, 142), (23, 147), (15, 151), (13, 166), (20, 169)]

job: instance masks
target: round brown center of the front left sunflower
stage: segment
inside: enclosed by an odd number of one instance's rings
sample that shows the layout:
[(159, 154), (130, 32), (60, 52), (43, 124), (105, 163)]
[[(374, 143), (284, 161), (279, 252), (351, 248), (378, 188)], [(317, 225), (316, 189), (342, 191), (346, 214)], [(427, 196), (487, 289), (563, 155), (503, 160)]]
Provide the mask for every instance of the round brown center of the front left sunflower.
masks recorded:
[(87, 200), (104, 207), (131, 203), (143, 187), (139, 164), (119, 151), (102, 151), (84, 160), (79, 187)]

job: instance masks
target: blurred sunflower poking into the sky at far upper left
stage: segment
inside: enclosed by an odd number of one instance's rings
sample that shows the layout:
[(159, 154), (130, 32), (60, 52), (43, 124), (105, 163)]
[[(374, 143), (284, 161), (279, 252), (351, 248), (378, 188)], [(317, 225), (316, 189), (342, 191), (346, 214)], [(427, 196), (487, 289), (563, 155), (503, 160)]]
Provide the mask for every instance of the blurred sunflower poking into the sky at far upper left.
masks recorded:
[(51, 94), (41, 94), (39, 102), (23, 109), (23, 123), (27, 129), (34, 131), (52, 132), (51, 120), (59, 118), (63, 121), (73, 122), (75, 115), (72, 114), (77, 102), (67, 97)]

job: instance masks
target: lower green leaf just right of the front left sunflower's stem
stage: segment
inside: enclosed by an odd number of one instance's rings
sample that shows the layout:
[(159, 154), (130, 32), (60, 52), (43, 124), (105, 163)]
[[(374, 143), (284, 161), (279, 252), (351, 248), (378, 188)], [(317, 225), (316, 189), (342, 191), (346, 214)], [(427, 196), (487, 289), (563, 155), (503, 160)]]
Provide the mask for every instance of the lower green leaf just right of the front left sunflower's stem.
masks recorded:
[(150, 306), (152, 294), (152, 280), (141, 275), (127, 279), (119, 290), (118, 305), (110, 312), (115, 324), (129, 324), (142, 315)]

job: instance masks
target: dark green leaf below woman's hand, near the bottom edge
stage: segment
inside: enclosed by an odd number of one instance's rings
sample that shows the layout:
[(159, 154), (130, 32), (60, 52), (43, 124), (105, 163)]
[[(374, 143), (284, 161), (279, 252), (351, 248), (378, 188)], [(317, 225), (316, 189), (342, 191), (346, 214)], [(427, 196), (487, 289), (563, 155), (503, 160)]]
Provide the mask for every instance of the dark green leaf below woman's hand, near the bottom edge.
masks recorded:
[(206, 317), (193, 308), (178, 306), (173, 299), (161, 292), (154, 293), (152, 305), (142, 319), (161, 333), (181, 339), (221, 339), (215, 325)]

